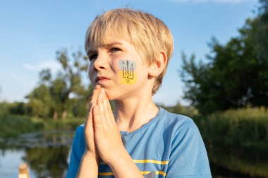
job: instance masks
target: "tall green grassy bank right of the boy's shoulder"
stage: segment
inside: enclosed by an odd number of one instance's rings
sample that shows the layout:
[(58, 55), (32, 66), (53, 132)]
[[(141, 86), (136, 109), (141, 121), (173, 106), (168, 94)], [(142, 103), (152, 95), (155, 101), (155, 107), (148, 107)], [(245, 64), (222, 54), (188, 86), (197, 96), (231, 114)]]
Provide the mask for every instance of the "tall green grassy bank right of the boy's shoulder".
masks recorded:
[(268, 148), (267, 108), (226, 110), (197, 117), (195, 123), (206, 142)]

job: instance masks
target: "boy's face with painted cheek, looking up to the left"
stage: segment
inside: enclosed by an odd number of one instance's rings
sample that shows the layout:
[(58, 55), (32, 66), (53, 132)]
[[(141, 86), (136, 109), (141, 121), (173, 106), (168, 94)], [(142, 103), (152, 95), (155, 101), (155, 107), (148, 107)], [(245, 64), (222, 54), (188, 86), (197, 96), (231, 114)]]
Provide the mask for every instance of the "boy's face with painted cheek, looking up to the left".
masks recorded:
[(147, 86), (148, 69), (135, 47), (123, 39), (94, 44), (87, 51), (89, 76), (99, 84), (110, 100), (140, 96)]

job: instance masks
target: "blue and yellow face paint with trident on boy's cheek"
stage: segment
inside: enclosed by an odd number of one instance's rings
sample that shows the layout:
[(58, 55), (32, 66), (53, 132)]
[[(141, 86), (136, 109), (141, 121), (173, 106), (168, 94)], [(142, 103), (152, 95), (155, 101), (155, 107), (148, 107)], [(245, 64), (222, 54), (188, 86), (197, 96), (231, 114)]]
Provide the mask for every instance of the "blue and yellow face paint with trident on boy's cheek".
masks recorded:
[(135, 61), (121, 60), (119, 61), (119, 75), (121, 84), (135, 84), (138, 80), (137, 72), (135, 72)]

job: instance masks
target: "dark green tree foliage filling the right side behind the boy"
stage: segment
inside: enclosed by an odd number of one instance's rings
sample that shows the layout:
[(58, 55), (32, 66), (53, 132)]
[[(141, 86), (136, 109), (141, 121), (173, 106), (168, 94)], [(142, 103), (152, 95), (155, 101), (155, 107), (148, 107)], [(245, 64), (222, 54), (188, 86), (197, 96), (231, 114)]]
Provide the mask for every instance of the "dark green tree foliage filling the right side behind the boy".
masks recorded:
[(256, 18), (246, 20), (225, 45), (212, 39), (207, 63), (183, 54), (181, 77), (185, 98), (200, 113), (229, 108), (268, 106), (268, 18), (267, 1), (260, 1)]

